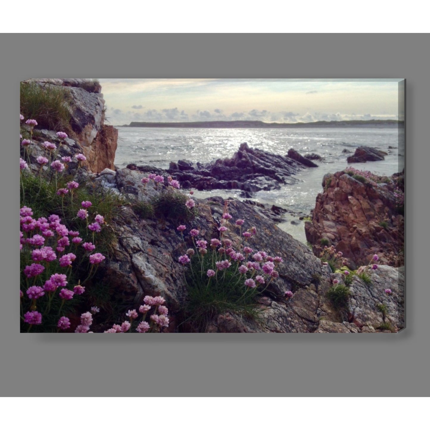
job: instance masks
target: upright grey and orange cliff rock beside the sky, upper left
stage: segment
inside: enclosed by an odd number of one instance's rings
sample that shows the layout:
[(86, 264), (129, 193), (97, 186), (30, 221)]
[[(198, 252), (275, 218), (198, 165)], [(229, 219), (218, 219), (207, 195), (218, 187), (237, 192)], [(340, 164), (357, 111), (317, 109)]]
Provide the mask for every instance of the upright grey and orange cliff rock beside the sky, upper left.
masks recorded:
[[(68, 87), (71, 103), (68, 105), (73, 135), (80, 152), (87, 158), (84, 165), (92, 172), (114, 169), (118, 130), (104, 125), (104, 99), (98, 82), (85, 79), (31, 79), (40, 86)], [(58, 130), (57, 130), (58, 131)], [(55, 135), (55, 133), (54, 133)]]

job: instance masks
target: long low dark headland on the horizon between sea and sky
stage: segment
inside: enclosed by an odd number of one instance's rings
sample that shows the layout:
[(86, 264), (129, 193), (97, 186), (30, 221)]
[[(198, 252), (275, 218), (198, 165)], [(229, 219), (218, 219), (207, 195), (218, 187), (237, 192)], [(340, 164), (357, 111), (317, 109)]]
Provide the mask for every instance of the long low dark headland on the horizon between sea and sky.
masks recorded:
[(193, 129), (289, 129), (303, 127), (403, 127), (398, 120), (315, 121), (313, 123), (264, 123), (263, 121), (197, 121), (186, 123), (131, 122), (116, 127), (174, 127)]

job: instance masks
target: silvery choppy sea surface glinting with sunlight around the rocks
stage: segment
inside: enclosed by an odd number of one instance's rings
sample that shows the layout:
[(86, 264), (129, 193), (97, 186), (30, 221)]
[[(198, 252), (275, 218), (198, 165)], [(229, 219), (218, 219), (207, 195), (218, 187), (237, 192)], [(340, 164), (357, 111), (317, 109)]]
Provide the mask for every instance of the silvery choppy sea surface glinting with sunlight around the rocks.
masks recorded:
[[(217, 158), (232, 157), (239, 145), (273, 154), (286, 155), (289, 148), (300, 154), (315, 153), (323, 157), (316, 161), (319, 167), (304, 168), (295, 175), (296, 184), (285, 185), (280, 190), (259, 191), (253, 200), (275, 204), (293, 212), (310, 213), (318, 193), (322, 192), (322, 177), (348, 166), (342, 151), (353, 153), (359, 146), (370, 146), (388, 153), (384, 161), (353, 163), (356, 169), (369, 170), (381, 175), (401, 172), (404, 166), (403, 129), (392, 128), (303, 128), (303, 129), (179, 129), (118, 127), (118, 148), (115, 165), (145, 164), (167, 169), (170, 161), (181, 159), (208, 163)], [(399, 144), (400, 142), (400, 144)], [(393, 147), (393, 148), (389, 148)], [(240, 198), (240, 190), (194, 190), (196, 197)], [(297, 216), (286, 215), (279, 227), (293, 237), (306, 242), (304, 223), (294, 225)]]

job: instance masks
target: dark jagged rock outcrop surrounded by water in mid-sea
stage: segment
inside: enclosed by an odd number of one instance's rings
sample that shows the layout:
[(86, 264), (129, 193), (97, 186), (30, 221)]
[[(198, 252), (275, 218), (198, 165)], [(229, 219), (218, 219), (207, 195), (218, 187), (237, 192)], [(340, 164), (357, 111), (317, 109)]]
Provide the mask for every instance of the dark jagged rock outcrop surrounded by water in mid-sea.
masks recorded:
[[(279, 189), (281, 184), (293, 183), (295, 179), (292, 175), (303, 166), (317, 167), (296, 151), (290, 151), (297, 160), (252, 149), (247, 143), (243, 143), (230, 159), (218, 159), (207, 165), (201, 163), (194, 165), (189, 160), (179, 160), (177, 163), (170, 163), (169, 169), (161, 174), (172, 175), (184, 188), (194, 187), (198, 190), (234, 188), (243, 190), (245, 197), (251, 197), (256, 191)], [(151, 166), (127, 167), (141, 172), (154, 170)]]

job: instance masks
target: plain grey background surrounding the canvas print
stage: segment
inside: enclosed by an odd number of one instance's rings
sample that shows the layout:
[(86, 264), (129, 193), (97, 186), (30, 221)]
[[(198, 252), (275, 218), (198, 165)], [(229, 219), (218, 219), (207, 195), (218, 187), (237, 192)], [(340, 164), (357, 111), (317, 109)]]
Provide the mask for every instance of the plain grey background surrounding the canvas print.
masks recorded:
[[(429, 395), (429, 34), (0, 38), (2, 396)], [(407, 328), (397, 335), (18, 333), (19, 82), (31, 77), (407, 78)]]

